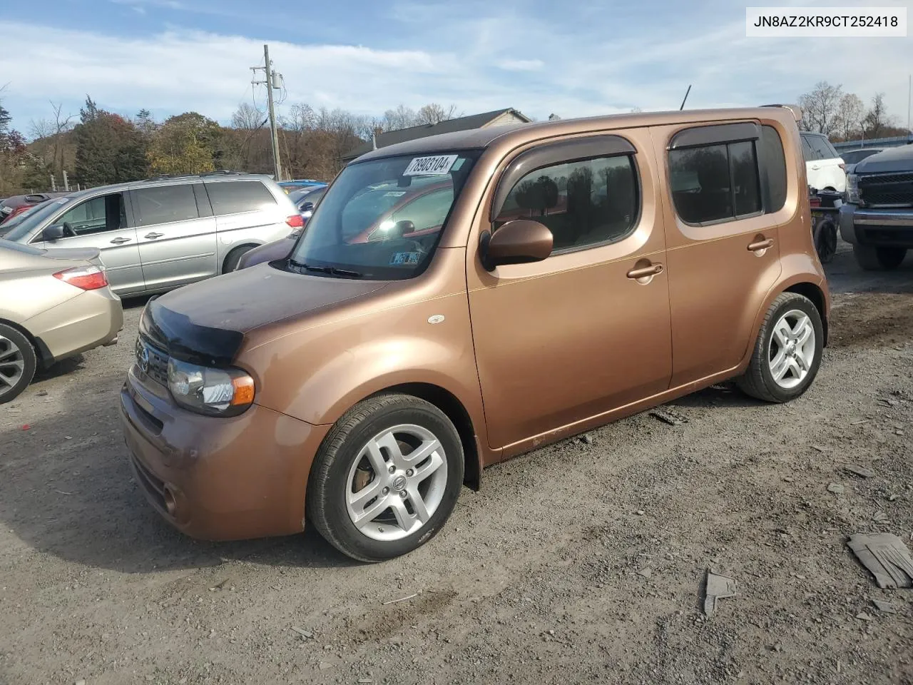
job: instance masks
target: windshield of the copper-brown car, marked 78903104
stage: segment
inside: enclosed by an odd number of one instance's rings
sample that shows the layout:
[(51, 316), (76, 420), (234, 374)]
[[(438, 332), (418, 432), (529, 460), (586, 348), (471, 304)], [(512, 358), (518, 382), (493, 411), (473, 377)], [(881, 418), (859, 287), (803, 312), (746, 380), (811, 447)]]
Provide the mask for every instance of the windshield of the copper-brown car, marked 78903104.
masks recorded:
[(346, 167), (292, 250), (289, 270), (399, 280), (425, 270), (477, 152), (406, 155)]

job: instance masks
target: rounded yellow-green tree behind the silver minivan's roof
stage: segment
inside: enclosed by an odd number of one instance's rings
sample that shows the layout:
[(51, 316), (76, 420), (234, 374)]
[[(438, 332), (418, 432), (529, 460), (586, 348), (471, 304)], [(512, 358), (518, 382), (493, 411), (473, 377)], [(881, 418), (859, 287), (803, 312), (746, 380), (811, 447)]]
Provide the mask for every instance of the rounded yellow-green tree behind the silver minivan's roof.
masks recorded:
[(152, 140), (149, 163), (153, 174), (203, 174), (215, 169), (223, 152), (219, 125), (195, 111), (166, 120)]

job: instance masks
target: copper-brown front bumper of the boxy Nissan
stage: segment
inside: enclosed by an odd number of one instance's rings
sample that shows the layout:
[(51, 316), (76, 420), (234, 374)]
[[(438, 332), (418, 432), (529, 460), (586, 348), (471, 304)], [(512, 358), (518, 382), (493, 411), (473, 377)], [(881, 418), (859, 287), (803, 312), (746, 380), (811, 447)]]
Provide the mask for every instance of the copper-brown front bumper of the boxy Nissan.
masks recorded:
[(308, 474), (330, 427), (262, 406), (231, 418), (175, 406), (131, 368), (121, 426), (146, 499), (191, 537), (242, 540), (304, 529)]

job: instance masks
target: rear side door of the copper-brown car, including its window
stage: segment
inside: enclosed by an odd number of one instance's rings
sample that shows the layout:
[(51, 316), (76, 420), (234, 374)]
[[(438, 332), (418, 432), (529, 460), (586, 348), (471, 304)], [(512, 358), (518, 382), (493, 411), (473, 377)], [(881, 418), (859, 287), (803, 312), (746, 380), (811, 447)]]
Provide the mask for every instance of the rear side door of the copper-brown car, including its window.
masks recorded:
[(794, 210), (784, 207), (779, 124), (761, 124), (652, 129), (668, 178), (673, 387), (740, 364), (754, 344), (761, 302), (780, 277), (779, 226)]

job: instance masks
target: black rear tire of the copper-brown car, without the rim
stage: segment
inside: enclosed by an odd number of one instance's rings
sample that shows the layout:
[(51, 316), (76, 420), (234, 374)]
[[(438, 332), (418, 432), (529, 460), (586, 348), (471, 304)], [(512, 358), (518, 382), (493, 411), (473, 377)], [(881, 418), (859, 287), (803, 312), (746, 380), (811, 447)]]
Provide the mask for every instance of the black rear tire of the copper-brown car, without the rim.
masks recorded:
[[(791, 388), (784, 388), (773, 379), (771, 374), (771, 340), (773, 339), (774, 326), (789, 311), (799, 310), (812, 321), (814, 330), (814, 357), (809, 367), (808, 374), (802, 382)], [(783, 292), (771, 302), (761, 331), (751, 354), (751, 362), (744, 374), (736, 379), (741, 391), (765, 402), (789, 402), (802, 395), (812, 385), (818, 368), (821, 366), (821, 354), (824, 348), (824, 327), (821, 323), (821, 314), (814, 306), (812, 300), (795, 292)]]

